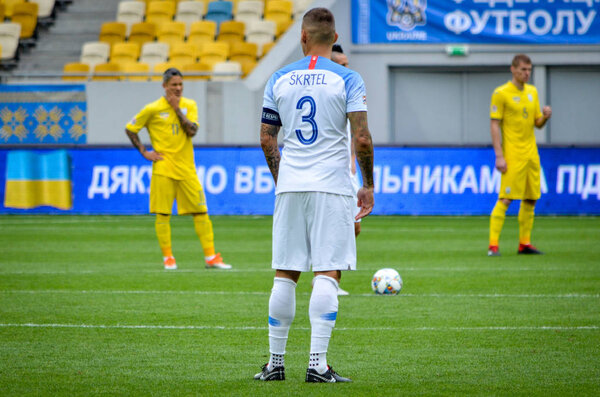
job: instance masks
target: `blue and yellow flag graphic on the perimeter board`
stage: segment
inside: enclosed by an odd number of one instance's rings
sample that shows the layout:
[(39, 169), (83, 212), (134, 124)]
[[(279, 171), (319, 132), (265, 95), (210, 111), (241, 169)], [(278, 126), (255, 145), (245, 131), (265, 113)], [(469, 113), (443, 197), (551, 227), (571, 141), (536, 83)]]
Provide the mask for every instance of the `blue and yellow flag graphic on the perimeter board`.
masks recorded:
[(11, 151), (6, 157), (4, 191), (4, 206), (7, 208), (50, 206), (71, 209), (71, 167), (67, 151)]

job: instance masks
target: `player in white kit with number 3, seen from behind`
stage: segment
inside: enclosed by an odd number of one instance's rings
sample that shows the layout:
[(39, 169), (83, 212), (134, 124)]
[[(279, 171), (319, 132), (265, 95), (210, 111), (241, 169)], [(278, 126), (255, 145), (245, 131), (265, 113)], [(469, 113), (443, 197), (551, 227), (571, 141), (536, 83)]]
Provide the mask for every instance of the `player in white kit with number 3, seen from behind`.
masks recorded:
[[(276, 184), (273, 289), (269, 299), (269, 362), (254, 379), (284, 380), (284, 354), (296, 310), (301, 272), (315, 274), (309, 303), (311, 346), (307, 382), (350, 382), (327, 365), (338, 313), (342, 270), (355, 270), (355, 219), (371, 213), (373, 143), (360, 75), (330, 60), (337, 40), (332, 13), (308, 11), (302, 20), (303, 59), (283, 67), (265, 87), (260, 140)], [(363, 176), (358, 203), (348, 172), (350, 120)], [(277, 135), (283, 131), (283, 152)]]

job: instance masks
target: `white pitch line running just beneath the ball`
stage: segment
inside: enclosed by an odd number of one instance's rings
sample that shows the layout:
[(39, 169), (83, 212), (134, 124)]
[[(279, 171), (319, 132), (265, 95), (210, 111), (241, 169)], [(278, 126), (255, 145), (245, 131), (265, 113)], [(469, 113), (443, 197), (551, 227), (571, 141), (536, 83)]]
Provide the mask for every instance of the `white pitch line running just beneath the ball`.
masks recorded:
[[(269, 291), (161, 291), (161, 290), (0, 290), (1, 294), (104, 294), (104, 295), (270, 295)], [(310, 292), (299, 292), (299, 295), (309, 295)], [(360, 296), (377, 299), (389, 299), (385, 296), (368, 294), (351, 294), (350, 297)], [(598, 299), (600, 294), (410, 294), (400, 293), (399, 297), (407, 298), (524, 298), (524, 299)]]

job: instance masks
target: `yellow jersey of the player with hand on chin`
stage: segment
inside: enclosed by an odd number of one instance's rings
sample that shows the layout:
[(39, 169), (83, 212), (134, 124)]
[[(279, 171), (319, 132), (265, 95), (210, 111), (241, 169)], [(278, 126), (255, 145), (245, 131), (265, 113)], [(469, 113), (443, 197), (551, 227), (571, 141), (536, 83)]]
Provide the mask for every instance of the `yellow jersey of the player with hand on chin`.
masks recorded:
[[(196, 101), (182, 97), (179, 108), (191, 122), (198, 123)], [(126, 128), (138, 133), (144, 127), (152, 148), (163, 157), (152, 164), (152, 174), (178, 180), (197, 178), (192, 138), (183, 131), (177, 114), (164, 96), (146, 105)]]

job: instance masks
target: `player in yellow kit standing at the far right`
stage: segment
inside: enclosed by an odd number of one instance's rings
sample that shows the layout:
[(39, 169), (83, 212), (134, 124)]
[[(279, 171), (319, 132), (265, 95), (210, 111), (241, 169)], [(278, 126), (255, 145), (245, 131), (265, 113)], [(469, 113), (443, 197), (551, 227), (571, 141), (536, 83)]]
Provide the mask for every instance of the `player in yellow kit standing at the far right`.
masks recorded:
[(490, 106), (490, 130), (496, 154), (496, 169), (502, 173), (500, 194), (490, 217), (488, 256), (499, 256), (498, 241), (506, 210), (513, 200), (519, 208), (519, 254), (541, 254), (531, 245), (534, 208), (540, 198), (540, 156), (534, 126), (542, 128), (552, 116), (550, 106), (540, 110), (537, 90), (527, 84), (531, 59), (515, 55), (512, 80), (496, 88)]

